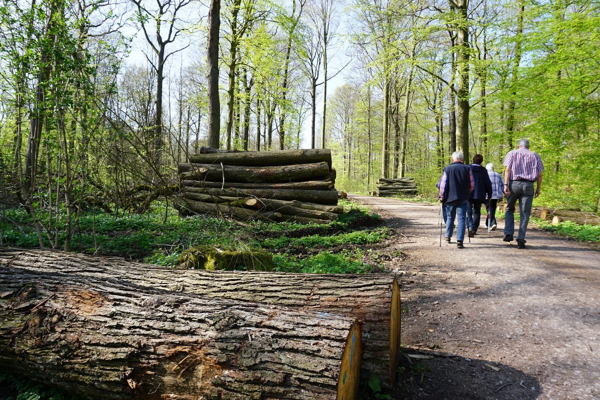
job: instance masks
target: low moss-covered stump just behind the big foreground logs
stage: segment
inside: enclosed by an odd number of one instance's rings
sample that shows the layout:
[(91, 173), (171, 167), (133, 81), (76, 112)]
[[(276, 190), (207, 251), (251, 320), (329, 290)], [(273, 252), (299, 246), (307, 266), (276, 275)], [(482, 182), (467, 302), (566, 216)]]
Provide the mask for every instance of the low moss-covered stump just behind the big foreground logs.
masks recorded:
[(179, 268), (206, 270), (257, 270), (275, 268), (271, 254), (263, 251), (221, 250), (214, 246), (196, 246), (185, 250), (177, 260)]

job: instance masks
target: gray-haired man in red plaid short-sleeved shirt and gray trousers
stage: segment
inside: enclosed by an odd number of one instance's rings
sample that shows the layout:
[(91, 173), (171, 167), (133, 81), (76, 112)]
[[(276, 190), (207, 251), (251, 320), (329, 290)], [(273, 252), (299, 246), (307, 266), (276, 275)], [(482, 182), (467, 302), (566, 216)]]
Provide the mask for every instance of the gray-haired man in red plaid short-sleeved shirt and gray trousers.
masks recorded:
[[(519, 215), (521, 222), (517, 236), (517, 248), (525, 248), (525, 233), (533, 198), (539, 196), (539, 188), (542, 185), (542, 171), (544, 164), (539, 155), (529, 150), (529, 140), (521, 139), (517, 150), (511, 150), (504, 158), (504, 194), (506, 195), (506, 216), (504, 226), (504, 240), (511, 242), (515, 231), (515, 205), (519, 201)], [(533, 182), (536, 182), (535, 193)]]

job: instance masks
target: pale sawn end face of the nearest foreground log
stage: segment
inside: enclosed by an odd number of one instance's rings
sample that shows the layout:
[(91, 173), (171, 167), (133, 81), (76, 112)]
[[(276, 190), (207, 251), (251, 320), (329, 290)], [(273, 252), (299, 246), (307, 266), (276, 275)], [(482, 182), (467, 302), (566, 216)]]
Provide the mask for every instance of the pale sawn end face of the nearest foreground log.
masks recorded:
[(346, 348), (341, 357), (340, 376), (338, 377), (337, 400), (358, 399), (358, 387), (361, 373), (362, 335), (358, 322), (350, 328), (346, 339)]

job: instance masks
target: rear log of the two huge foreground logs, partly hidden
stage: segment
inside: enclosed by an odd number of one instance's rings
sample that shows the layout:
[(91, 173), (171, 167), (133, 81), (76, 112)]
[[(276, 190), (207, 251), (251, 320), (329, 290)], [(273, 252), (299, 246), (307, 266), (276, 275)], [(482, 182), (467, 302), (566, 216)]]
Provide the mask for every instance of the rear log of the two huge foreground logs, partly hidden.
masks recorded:
[(362, 324), (361, 379), (371, 372), (394, 383), (400, 356), (400, 285), (387, 274), (329, 275), (182, 270), (46, 249), (0, 247), (0, 266), (138, 285), (202, 296), (259, 302), (356, 317)]

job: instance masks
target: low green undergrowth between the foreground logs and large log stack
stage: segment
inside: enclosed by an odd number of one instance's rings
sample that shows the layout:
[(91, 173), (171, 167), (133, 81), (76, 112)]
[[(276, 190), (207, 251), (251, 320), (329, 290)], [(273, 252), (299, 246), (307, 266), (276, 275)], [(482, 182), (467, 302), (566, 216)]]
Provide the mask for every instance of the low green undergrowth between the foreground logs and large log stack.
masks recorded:
[[(95, 255), (115, 255), (130, 260), (163, 266), (178, 265), (178, 258), (195, 246), (214, 246), (224, 252), (269, 251), (277, 255), (279, 270), (299, 272), (369, 272), (352, 252), (340, 252), (344, 246), (376, 245), (388, 231), (382, 219), (367, 207), (342, 200), (344, 212), (336, 221), (323, 224), (236, 222), (208, 216), (180, 217), (176, 210), (154, 203), (143, 215), (85, 213), (80, 216), (71, 238), (70, 251)], [(0, 221), (5, 245), (35, 248), (39, 246), (31, 217), (23, 209), (8, 209), (10, 223)], [(47, 221), (43, 221), (47, 225)], [(63, 227), (59, 225), (58, 231)], [(50, 231), (54, 237), (54, 231)], [(58, 235), (62, 248), (64, 234)], [(44, 235), (44, 245), (50, 242)], [(340, 248), (340, 246), (342, 248)], [(290, 248), (310, 249), (304, 254), (287, 254)], [(323, 252), (323, 255), (318, 253)], [(339, 254), (332, 254), (336, 252)], [(304, 260), (307, 258), (307, 260)], [(330, 264), (329, 266), (326, 264)], [(358, 264), (357, 264), (358, 263)]]

